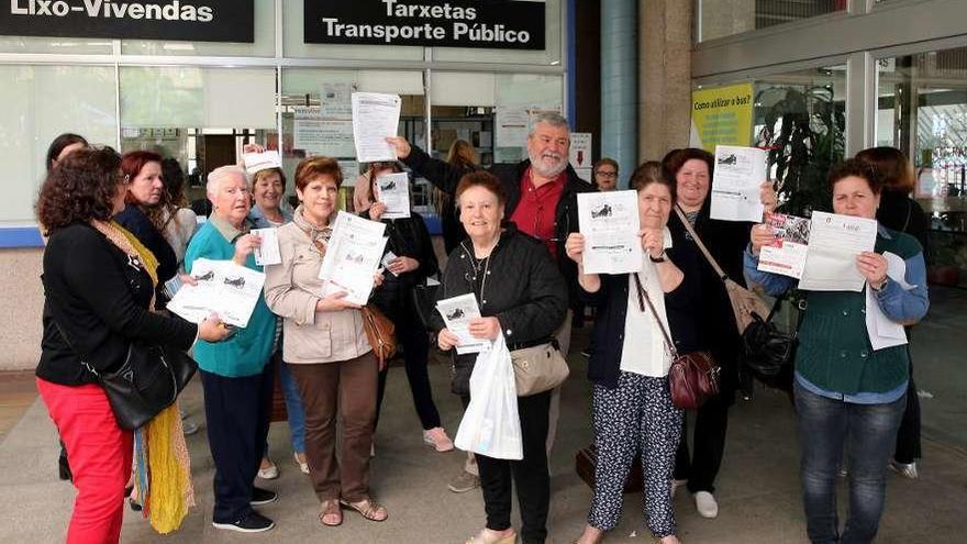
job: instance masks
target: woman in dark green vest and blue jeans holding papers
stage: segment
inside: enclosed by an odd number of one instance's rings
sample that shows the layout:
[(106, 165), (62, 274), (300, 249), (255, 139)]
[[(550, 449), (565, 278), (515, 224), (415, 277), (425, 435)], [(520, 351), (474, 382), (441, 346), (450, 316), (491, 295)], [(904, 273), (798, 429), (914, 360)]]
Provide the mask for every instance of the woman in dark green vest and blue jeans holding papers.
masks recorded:
[[(833, 211), (875, 219), (882, 181), (866, 164), (846, 160), (830, 171)], [(770, 295), (794, 287), (786, 276), (757, 269), (759, 249), (774, 240), (758, 225), (745, 255), (745, 273)], [(860, 292), (807, 291), (796, 352), (802, 493), (813, 542), (871, 542), (886, 497), (886, 470), (907, 404), (910, 358), (905, 340), (882, 347), (876, 330), (915, 323), (926, 314), (926, 273), (920, 244), (882, 225), (876, 247), (856, 256)], [(879, 348), (875, 348), (872, 342)], [(843, 452), (847, 463), (843, 464)], [(849, 518), (840, 531), (836, 476), (849, 478)]]

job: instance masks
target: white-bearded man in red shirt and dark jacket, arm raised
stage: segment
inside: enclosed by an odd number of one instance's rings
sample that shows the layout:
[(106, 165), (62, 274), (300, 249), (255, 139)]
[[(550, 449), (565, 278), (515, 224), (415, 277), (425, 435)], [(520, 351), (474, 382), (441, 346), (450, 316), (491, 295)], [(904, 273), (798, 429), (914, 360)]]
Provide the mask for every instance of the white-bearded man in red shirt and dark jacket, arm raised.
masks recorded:
[[(457, 184), (470, 169), (454, 166), (431, 157), (426, 152), (411, 145), (402, 137), (389, 137), (397, 156), (418, 176), (430, 180), (453, 197)], [(564, 242), (567, 235), (578, 230), (577, 193), (593, 191), (589, 182), (582, 180), (568, 164), (570, 151), (570, 130), (567, 120), (557, 113), (541, 113), (534, 118), (527, 134), (527, 159), (516, 164), (496, 164), (489, 171), (497, 176), (507, 193), (504, 213), (519, 231), (540, 240), (557, 262), (562, 275), (567, 280), (570, 306), (577, 304), (577, 265), (567, 258)], [(556, 333), (560, 353), (567, 356), (570, 347), (570, 324), (574, 317), (568, 311), (567, 319)], [(508, 347), (513, 351), (512, 335), (504, 331)], [(551, 399), (551, 414), (547, 431), (547, 454), (557, 431), (560, 390), (554, 391)], [(451, 491), (464, 492), (480, 484), (476, 475), (476, 464), (468, 459), (464, 473), (449, 484)]]

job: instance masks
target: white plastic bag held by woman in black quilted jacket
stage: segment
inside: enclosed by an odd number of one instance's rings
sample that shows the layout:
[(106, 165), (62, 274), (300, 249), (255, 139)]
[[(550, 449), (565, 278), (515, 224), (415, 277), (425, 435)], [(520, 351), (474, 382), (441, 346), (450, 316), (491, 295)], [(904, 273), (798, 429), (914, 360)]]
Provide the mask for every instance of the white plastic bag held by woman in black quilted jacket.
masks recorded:
[(524, 458), (513, 365), (503, 335), (480, 353), (470, 374), (470, 404), (454, 444), (496, 459)]

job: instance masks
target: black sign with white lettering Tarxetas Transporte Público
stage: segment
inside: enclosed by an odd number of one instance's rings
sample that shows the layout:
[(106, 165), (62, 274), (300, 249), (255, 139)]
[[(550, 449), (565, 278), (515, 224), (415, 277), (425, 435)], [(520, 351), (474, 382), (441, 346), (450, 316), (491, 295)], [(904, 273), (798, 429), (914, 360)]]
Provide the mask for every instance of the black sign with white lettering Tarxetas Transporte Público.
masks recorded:
[(305, 43), (544, 48), (544, 2), (304, 0)]

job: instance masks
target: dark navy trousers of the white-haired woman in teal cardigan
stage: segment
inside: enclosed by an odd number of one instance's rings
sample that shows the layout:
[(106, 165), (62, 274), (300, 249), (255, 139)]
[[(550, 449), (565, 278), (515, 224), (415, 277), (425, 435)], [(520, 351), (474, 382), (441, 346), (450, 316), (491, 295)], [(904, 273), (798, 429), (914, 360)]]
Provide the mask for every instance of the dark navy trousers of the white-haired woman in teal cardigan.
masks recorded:
[(229, 378), (199, 369), (208, 443), (215, 465), (212, 521), (233, 523), (252, 511), (252, 487), (268, 435), (273, 366)]

